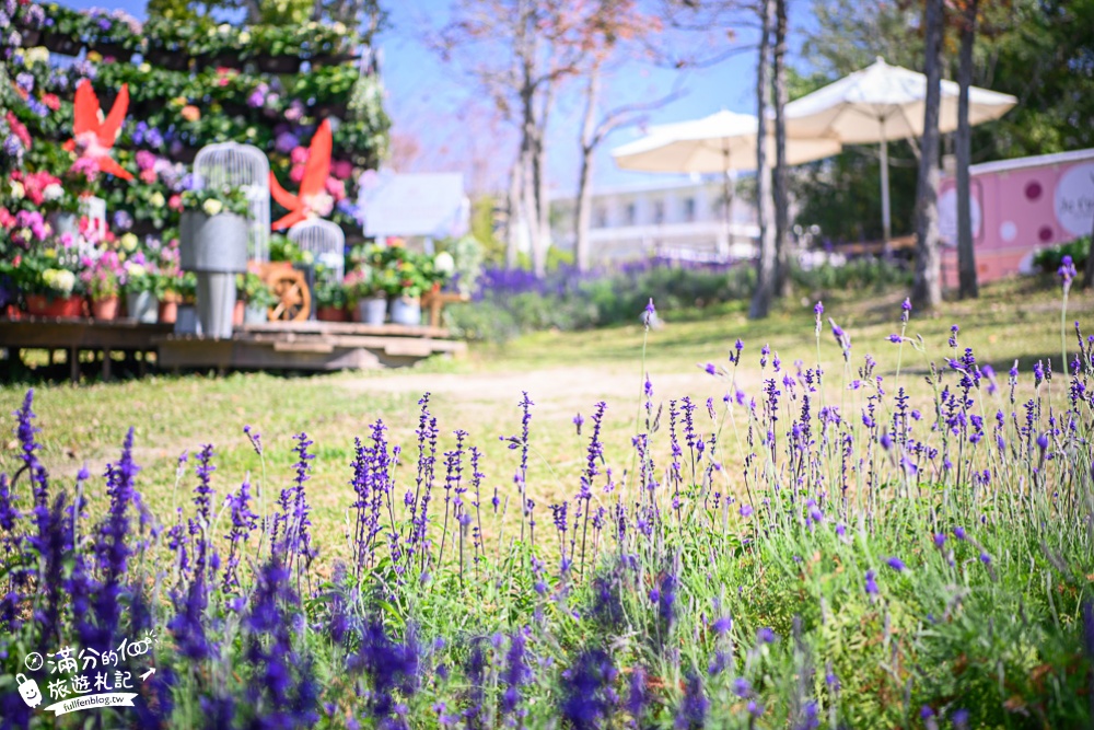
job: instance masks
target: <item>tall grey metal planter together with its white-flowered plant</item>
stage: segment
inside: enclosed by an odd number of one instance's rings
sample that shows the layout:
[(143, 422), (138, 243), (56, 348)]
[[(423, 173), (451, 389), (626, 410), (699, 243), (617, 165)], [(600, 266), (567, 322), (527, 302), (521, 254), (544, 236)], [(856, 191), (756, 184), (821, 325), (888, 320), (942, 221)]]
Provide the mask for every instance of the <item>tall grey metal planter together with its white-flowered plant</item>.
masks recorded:
[(198, 316), (202, 333), (232, 336), (235, 275), (247, 270), (246, 190), (212, 186), (183, 193), (179, 262), (198, 274)]

